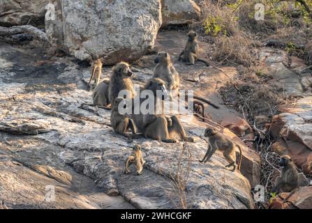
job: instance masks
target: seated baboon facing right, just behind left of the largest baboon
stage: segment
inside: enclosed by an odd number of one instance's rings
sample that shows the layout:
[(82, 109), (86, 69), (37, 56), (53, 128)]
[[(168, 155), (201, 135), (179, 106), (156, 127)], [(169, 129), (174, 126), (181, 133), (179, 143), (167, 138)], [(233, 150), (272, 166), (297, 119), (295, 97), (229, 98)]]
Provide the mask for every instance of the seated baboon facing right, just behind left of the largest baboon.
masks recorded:
[(125, 62), (117, 63), (112, 68), (112, 76), (110, 77), (110, 85), (108, 88), (110, 102), (114, 106), (114, 99), (122, 90), (128, 90), (131, 97), (134, 97), (133, 83), (129, 77), (132, 77), (133, 72), (129, 68), (129, 64)]

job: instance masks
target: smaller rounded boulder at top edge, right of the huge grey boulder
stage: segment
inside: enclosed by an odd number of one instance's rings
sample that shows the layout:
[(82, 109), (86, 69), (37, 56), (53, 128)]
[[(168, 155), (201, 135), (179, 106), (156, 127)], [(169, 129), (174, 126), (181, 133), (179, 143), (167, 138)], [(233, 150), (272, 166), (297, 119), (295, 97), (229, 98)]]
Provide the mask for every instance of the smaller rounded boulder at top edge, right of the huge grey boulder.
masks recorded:
[(200, 7), (193, 0), (163, 0), (161, 3), (162, 26), (186, 24), (200, 17)]

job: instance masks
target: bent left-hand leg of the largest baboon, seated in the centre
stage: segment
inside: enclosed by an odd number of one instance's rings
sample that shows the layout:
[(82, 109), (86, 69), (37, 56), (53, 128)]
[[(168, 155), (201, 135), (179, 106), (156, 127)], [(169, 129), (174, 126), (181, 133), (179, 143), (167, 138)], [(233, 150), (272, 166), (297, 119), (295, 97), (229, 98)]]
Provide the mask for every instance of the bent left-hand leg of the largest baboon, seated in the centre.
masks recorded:
[(177, 142), (175, 139), (170, 139), (167, 119), (164, 116), (158, 116), (153, 123), (149, 124), (145, 129), (144, 134), (145, 137), (167, 143)]

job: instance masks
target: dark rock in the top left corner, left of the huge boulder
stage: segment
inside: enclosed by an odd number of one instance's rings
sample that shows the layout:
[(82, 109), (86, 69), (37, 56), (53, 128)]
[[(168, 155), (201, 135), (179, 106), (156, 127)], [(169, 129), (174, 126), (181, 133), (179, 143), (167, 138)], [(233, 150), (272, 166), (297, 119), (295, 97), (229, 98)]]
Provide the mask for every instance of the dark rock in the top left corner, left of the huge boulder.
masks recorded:
[(0, 26), (45, 24), (48, 0), (6, 0), (0, 3)]

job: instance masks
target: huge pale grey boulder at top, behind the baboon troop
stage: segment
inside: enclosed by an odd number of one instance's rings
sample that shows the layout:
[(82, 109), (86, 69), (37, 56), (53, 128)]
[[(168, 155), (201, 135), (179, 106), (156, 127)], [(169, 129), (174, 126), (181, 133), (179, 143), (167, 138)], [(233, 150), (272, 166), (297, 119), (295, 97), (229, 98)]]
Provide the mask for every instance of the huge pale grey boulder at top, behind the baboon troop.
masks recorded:
[(105, 65), (139, 59), (154, 47), (161, 1), (53, 0), (56, 20), (45, 21), (52, 45), (77, 59), (103, 57)]

